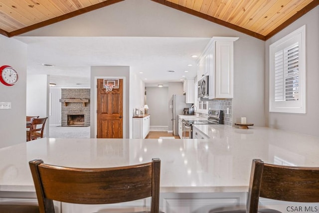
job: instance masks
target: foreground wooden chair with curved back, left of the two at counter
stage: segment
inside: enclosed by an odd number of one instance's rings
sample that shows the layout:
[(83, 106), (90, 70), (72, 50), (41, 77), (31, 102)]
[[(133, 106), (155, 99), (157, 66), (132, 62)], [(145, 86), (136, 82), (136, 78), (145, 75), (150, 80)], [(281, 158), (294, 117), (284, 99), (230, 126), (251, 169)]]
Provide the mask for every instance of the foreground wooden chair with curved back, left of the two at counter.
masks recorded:
[[(160, 159), (115, 167), (80, 169), (29, 162), (40, 213), (54, 213), (53, 200), (72, 204), (115, 204), (152, 197), (159, 213)], [(135, 212), (136, 213), (136, 212)], [(142, 212), (138, 212), (142, 213)]]

